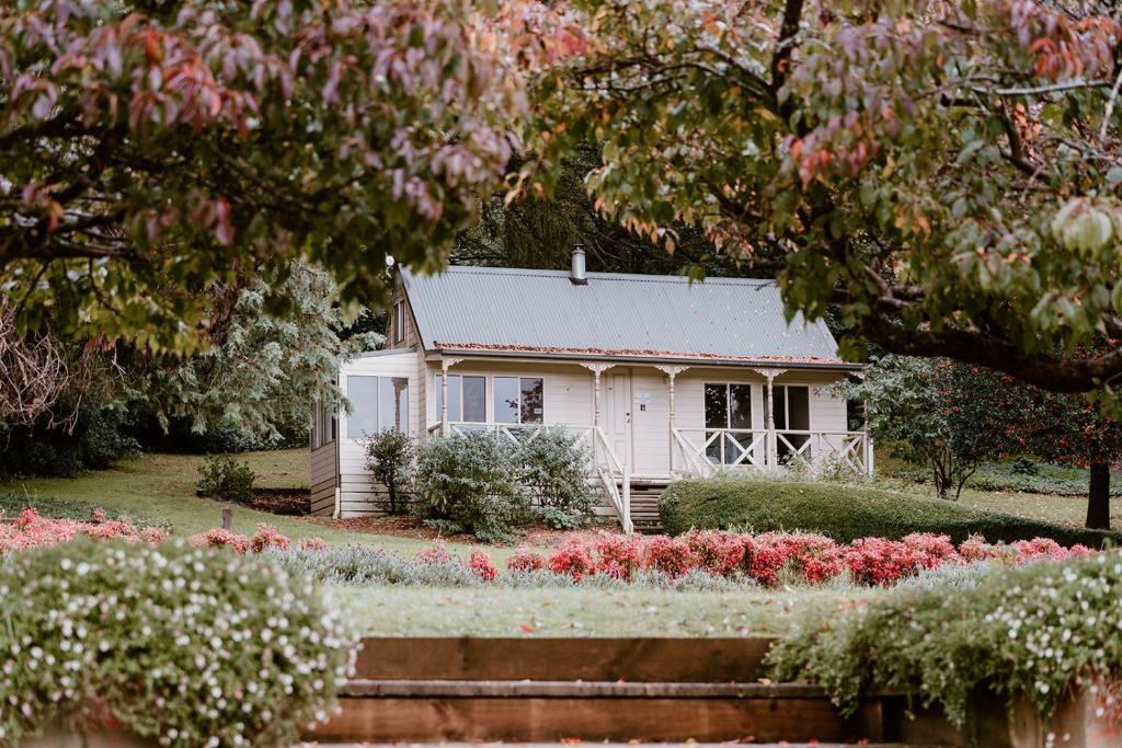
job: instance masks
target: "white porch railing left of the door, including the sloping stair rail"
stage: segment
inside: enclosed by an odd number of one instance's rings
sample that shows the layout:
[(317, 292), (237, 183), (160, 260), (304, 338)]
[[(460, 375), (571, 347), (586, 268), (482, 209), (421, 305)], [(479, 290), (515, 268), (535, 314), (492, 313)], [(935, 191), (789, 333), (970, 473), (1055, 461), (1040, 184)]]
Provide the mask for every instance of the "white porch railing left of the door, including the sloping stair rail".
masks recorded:
[[(587, 468), (589, 478), (598, 479), (608, 496), (611, 508), (619, 517), (619, 524), (625, 533), (632, 533), (634, 525), (631, 518), (631, 470), (624, 464), (611, 449), (607, 434), (603, 428), (594, 426), (568, 426), (542, 424), (507, 424), (507, 423), (468, 423), (451, 422), (448, 424), (450, 435), (465, 435), (470, 433), (493, 433), (509, 438), (515, 444), (525, 444), (533, 441), (543, 428), (561, 428), (570, 434), (576, 434), (583, 443), (589, 454)], [(430, 435), (441, 432), (441, 424), (429, 426)]]

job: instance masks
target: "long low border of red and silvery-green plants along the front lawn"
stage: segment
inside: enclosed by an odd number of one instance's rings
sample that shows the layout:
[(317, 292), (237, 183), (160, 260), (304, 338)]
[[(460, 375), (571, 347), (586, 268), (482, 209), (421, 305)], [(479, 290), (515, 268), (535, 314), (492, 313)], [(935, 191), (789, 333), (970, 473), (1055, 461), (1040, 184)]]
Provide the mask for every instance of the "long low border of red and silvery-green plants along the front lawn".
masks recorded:
[(362, 546), (276, 553), (301, 575), (342, 584), (641, 584), (734, 589), (738, 584), (775, 587), (835, 581), (889, 587), (937, 569), (965, 569), (981, 562), (1021, 565), (1086, 556), (1092, 552), (1084, 546), (1064, 548), (1048, 538), (991, 545), (975, 537), (956, 547), (946, 536), (913, 535), (902, 541), (864, 538), (852, 545), (838, 545), (821, 535), (732, 535), (702, 530), (678, 538), (605, 533), (595, 542), (574, 537), (544, 553), (521, 547), (507, 560), (505, 573), (499, 573), (481, 551), (473, 551), (465, 560), (443, 545), (424, 548), (412, 561), (383, 548)]

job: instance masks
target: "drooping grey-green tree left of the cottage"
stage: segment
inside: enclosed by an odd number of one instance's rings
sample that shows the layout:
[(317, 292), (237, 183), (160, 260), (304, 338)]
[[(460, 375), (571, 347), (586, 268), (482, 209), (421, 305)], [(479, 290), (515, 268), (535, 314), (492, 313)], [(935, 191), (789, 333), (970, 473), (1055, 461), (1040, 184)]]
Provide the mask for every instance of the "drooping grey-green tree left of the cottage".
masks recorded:
[[(283, 294), (289, 310), (268, 310), (270, 293)], [(122, 397), (140, 415), (176, 441), (185, 434), (229, 434), (232, 449), (277, 444), (307, 434), (311, 404), (339, 407), (341, 361), (378, 348), (380, 333), (341, 339), (348, 317), (338, 304), (331, 278), (321, 270), (294, 266), (276, 289), (255, 278), (241, 290), (212, 295), (229, 311), (210, 333), (211, 347), (195, 355), (149, 355), (135, 351), (136, 367)], [(149, 434), (149, 443), (158, 436)]]

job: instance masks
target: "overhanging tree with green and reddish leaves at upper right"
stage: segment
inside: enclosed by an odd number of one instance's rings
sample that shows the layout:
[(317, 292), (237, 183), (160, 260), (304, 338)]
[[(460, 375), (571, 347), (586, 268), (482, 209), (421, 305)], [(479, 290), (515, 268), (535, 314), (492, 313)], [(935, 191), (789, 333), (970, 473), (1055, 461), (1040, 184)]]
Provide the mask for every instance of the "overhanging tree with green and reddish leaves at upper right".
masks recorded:
[[(577, 2), (535, 80), (544, 168), (603, 144), (596, 205), (837, 303), (848, 355), (950, 357), (1057, 391), (1122, 377), (1114, 3)], [(543, 177), (544, 178), (544, 177)]]

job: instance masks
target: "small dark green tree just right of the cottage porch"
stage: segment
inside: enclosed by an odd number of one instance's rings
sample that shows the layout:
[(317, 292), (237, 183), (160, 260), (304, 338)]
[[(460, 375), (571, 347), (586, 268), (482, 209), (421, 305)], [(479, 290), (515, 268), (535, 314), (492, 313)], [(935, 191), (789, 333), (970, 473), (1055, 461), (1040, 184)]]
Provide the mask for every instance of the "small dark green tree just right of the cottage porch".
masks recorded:
[(846, 388), (868, 404), (874, 437), (913, 464), (926, 465), (939, 498), (963, 486), (1004, 442), (1004, 423), (976, 391), (969, 368), (951, 361), (886, 355)]

